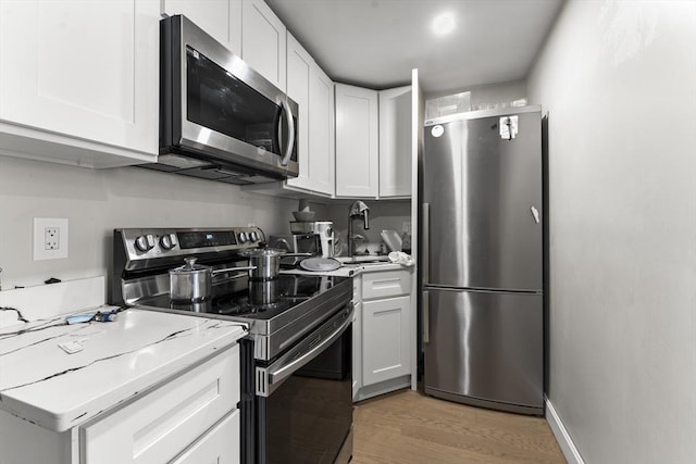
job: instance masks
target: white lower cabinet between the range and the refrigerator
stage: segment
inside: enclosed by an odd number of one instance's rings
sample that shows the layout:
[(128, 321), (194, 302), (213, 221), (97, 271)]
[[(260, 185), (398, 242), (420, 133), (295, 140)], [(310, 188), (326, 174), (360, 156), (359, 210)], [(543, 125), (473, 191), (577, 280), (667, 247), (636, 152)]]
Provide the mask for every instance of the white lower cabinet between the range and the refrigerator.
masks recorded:
[(411, 386), (411, 271), (364, 273), (353, 329), (353, 401)]

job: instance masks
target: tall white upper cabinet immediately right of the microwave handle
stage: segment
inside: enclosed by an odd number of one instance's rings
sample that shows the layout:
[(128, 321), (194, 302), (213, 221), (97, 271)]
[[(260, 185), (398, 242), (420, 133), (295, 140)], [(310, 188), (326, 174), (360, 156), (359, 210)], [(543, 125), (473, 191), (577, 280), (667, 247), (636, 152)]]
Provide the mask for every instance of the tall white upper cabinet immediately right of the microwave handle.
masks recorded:
[(334, 83), (312, 57), (287, 35), (287, 93), (299, 104), (300, 173), (287, 185), (334, 192)]

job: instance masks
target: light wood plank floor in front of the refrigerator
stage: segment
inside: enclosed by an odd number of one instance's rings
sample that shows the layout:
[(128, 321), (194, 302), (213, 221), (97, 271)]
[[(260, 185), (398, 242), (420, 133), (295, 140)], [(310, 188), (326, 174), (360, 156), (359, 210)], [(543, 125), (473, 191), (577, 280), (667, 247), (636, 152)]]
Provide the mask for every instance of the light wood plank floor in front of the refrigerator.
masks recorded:
[(542, 417), (437, 400), (412, 390), (357, 404), (355, 464), (566, 463)]

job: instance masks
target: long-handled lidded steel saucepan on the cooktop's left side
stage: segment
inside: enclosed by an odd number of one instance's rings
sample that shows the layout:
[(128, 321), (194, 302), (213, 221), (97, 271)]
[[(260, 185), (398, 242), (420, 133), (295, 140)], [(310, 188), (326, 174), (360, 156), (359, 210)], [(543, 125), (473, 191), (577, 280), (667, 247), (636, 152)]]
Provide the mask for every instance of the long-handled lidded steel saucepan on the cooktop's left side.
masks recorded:
[(181, 267), (170, 269), (170, 300), (199, 302), (212, 296), (213, 276), (220, 273), (256, 269), (254, 266), (215, 269), (196, 264), (196, 258), (185, 258)]

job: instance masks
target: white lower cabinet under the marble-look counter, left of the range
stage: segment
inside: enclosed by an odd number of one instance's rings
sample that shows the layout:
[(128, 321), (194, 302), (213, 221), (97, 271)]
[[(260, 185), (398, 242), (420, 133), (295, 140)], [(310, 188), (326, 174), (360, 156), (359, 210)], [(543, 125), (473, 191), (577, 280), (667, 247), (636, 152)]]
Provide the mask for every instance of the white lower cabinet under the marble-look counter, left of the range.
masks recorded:
[(236, 464), (240, 461), (239, 389), (239, 346), (235, 344), (64, 432), (0, 411), (0, 462)]

